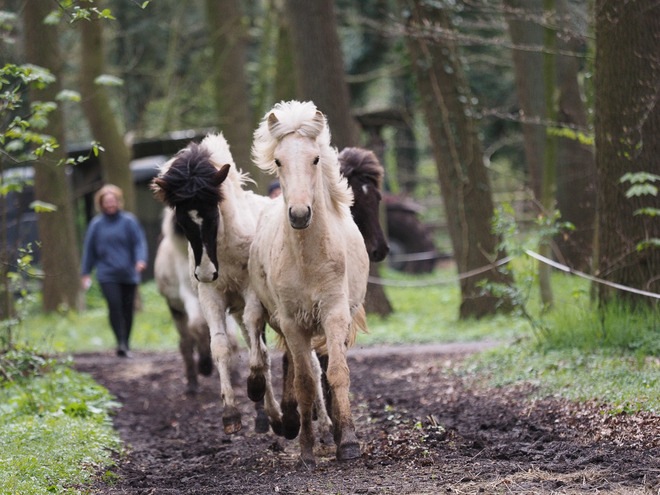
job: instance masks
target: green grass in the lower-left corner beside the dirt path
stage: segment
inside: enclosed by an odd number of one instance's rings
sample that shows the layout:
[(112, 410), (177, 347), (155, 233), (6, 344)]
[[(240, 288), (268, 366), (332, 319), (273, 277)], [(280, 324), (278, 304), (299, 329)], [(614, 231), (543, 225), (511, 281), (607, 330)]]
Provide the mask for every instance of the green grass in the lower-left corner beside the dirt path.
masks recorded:
[(120, 448), (108, 416), (117, 404), (66, 365), (42, 361), (12, 374), (12, 358), (2, 357), (10, 378), (0, 381), (0, 493), (89, 493)]

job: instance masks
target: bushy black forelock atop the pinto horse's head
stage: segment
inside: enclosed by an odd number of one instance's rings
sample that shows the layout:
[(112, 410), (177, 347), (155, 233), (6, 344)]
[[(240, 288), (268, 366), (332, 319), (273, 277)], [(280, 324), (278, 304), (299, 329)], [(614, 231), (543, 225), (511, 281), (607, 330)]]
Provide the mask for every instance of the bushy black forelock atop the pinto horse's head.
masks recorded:
[(177, 153), (167, 171), (154, 179), (156, 197), (171, 208), (185, 202), (219, 203), (222, 193), (215, 180), (218, 169), (211, 163), (211, 152), (201, 144), (190, 143)]

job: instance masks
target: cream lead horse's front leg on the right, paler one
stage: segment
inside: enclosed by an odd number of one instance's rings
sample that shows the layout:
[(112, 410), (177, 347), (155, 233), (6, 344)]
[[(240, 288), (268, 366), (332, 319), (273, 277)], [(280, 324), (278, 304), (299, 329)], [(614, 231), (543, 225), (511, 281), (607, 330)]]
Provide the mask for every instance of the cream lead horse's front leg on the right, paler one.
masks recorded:
[(332, 389), (332, 423), (334, 425), (337, 459), (340, 461), (360, 457), (360, 444), (355, 435), (348, 393), (351, 385), (350, 370), (346, 363), (351, 317), (338, 308), (328, 311), (323, 318), (323, 329), (328, 347), (328, 383)]

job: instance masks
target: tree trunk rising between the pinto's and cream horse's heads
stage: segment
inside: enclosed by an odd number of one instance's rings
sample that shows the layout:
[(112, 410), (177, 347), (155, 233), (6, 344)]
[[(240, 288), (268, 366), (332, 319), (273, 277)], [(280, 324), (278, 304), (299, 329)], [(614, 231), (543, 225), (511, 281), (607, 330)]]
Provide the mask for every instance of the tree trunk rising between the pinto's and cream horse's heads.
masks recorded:
[(256, 190), (266, 193), (268, 179), (252, 164), (252, 114), (245, 76), (247, 35), (238, 0), (206, 0), (219, 130), (236, 166), (248, 172)]

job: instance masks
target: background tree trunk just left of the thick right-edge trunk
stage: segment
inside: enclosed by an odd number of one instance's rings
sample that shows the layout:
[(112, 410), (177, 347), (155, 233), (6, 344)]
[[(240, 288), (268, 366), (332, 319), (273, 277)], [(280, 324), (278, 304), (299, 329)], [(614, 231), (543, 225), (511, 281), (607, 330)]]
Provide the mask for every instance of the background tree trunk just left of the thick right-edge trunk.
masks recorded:
[[(556, 0), (560, 26), (568, 25), (569, 38), (559, 36), (559, 51), (584, 52), (584, 41), (575, 33), (578, 24), (575, 12), (568, 0)], [(580, 6), (586, 9), (586, 4)], [(582, 13), (586, 16), (586, 12)], [(578, 82), (580, 58), (557, 55), (557, 81), (559, 107), (557, 120), (586, 132), (587, 110), (582, 101)], [(580, 271), (589, 271), (593, 255), (594, 223), (596, 218), (595, 156), (593, 146), (582, 144), (578, 139), (557, 138), (557, 208), (562, 221), (571, 222), (575, 230), (567, 236), (559, 235), (555, 242), (564, 261)]]

